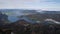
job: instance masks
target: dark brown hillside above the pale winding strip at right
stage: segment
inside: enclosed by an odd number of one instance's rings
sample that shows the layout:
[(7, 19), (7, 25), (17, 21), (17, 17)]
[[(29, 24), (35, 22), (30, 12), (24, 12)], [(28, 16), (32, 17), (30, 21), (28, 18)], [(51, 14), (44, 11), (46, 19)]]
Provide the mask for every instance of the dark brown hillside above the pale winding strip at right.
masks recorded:
[(60, 21), (60, 14), (33, 14), (26, 16), (39, 21), (43, 21), (44, 19), (54, 19), (56, 21)]

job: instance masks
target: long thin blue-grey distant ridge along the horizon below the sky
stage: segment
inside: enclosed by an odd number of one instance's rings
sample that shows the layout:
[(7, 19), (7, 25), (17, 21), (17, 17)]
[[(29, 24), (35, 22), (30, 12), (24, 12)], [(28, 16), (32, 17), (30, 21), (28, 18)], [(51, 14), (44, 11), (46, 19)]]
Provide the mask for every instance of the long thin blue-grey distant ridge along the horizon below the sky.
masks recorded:
[(44, 10), (28, 10), (28, 9), (0, 9), (1, 12), (3, 13), (21, 13), (21, 14), (36, 14), (36, 13), (41, 13), (41, 14), (60, 14), (60, 11), (44, 11)]

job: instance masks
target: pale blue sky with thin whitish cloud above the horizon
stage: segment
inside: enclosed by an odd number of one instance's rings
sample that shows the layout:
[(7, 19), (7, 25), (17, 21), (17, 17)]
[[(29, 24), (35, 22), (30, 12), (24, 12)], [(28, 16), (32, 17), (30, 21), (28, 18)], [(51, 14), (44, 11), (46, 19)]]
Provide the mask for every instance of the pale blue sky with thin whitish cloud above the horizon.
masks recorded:
[(41, 9), (60, 11), (60, 0), (0, 0), (0, 9)]

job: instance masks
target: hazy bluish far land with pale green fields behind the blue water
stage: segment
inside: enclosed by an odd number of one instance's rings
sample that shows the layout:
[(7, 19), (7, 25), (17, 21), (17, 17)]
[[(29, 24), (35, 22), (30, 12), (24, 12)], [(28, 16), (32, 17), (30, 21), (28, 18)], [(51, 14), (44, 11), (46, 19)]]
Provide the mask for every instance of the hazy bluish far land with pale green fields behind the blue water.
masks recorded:
[(24, 10), (24, 9), (0, 9), (2, 13), (12, 16), (28, 15), (37, 13), (36, 10)]

